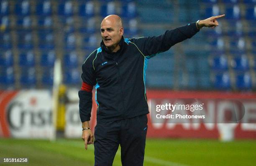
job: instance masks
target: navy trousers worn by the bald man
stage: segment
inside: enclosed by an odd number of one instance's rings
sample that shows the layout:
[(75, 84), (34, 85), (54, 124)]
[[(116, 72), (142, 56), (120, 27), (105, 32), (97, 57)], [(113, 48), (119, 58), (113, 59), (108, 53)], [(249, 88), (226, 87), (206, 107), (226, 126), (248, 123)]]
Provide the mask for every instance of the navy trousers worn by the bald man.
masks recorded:
[(147, 115), (113, 122), (97, 122), (95, 127), (95, 166), (112, 166), (121, 146), (122, 166), (143, 166)]

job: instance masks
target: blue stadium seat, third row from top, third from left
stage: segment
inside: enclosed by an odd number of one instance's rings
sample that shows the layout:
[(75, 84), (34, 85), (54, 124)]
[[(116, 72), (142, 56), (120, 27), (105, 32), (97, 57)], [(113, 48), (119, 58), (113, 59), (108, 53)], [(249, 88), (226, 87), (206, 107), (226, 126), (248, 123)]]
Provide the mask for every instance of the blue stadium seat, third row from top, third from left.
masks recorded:
[(41, 31), (38, 33), (40, 49), (54, 49), (54, 33)]

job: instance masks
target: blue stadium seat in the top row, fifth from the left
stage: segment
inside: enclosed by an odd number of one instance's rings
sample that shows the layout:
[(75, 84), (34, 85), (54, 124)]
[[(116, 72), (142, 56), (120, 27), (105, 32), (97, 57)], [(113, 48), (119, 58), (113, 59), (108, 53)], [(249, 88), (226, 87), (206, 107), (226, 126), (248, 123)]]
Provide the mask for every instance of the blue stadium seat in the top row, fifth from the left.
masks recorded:
[(83, 17), (93, 17), (95, 15), (95, 4), (92, 0), (87, 1), (86, 3), (83, 3), (79, 7), (79, 16)]

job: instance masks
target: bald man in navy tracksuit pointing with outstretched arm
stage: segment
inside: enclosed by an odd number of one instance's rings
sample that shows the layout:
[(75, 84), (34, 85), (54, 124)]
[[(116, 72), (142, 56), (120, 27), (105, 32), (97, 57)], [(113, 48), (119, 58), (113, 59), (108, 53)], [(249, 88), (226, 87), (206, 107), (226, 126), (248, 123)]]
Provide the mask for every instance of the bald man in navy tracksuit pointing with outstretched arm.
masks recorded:
[[(102, 42), (82, 65), (79, 91), (82, 139), (86, 150), (94, 143), (95, 166), (112, 166), (119, 145), (123, 166), (143, 166), (149, 113), (145, 87), (148, 59), (192, 38), (202, 27), (218, 26), (221, 17), (224, 15), (198, 20), (160, 36), (131, 39), (123, 38), (118, 15), (102, 20)], [(97, 103), (95, 140), (89, 124), (93, 86)]]

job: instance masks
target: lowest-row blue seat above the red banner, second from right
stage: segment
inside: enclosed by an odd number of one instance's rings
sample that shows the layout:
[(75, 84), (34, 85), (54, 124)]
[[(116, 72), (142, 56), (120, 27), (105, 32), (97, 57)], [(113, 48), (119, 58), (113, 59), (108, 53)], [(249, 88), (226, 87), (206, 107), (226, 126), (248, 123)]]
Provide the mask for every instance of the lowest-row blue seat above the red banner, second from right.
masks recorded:
[(214, 87), (217, 89), (230, 89), (231, 82), (228, 72), (215, 75)]

